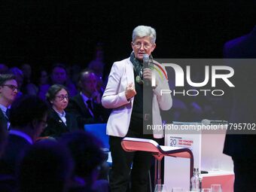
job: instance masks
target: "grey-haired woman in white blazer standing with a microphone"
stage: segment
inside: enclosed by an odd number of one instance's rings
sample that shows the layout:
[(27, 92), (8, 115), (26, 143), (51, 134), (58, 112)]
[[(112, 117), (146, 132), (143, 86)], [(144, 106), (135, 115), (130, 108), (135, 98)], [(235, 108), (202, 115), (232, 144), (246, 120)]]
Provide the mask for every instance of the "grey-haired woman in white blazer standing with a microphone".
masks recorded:
[[(151, 167), (151, 154), (143, 151), (123, 151), (120, 142), (123, 137), (154, 139), (162, 138), (163, 134), (148, 134), (143, 132), (143, 120), (147, 124), (162, 124), (160, 109), (169, 110), (172, 106), (170, 94), (161, 94), (160, 90), (169, 90), (168, 81), (160, 80), (156, 74), (156, 86), (147, 86), (143, 82), (151, 81), (152, 70), (143, 69), (143, 56), (148, 54), (153, 62), (151, 53), (156, 47), (156, 32), (150, 26), (137, 26), (133, 30), (131, 46), (133, 52), (130, 57), (114, 62), (105, 93), (102, 96), (102, 105), (112, 108), (108, 118), (107, 133), (112, 156), (112, 172), (110, 177), (111, 192), (126, 191), (131, 177), (131, 191), (147, 191), (148, 170)], [(145, 89), (144, 89), (144, 88)], [(143, 93), (150, 99), (145, 108), (150, 111), (143, 113)], [(133, 169), (131, 171), (131, 164)], [(131, 173), (130, 173), (131, 171)]]

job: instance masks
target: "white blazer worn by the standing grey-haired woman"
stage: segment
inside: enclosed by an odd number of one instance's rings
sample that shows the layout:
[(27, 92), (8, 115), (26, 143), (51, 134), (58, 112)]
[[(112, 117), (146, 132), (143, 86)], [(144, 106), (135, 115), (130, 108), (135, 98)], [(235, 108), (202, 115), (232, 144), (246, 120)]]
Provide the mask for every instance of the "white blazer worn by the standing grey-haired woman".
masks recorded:
[[(160, 108), (169, 110), (172, 107), (171, 94), (160, 95), (160, 90), (169, 90), (166, 79), (158, 78), (158, 85), (153, 90), (152, 101), (152, 122), (154, 125), (162, 125)], [(105, 108), (112, 108), (107, 123), (107, 134), (109, 136), (124, 137), (130, 126), (130, 118), (133, 111), (134, 97), (127, 101), (125, 96), (126, 86), (134, 84), (133, 63), (130, 58), (114, 62), (108, 77), (108, 84), (102, 96), (102, 105)], [(163, 138), (163, 130), (154, 130), (154, 138)]]

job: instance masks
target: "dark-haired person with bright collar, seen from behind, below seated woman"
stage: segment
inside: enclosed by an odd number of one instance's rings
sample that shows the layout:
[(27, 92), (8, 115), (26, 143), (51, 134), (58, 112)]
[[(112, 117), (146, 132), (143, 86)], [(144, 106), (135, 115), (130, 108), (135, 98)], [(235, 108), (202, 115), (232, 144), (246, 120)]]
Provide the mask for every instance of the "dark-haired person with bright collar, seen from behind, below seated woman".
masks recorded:
[(20, 153), (32, 145), (47, 126), (47, 104), (37, 96), (22, 96), (11, 105), (11, 130), (0, 162), (2, 174), (14, 175)]

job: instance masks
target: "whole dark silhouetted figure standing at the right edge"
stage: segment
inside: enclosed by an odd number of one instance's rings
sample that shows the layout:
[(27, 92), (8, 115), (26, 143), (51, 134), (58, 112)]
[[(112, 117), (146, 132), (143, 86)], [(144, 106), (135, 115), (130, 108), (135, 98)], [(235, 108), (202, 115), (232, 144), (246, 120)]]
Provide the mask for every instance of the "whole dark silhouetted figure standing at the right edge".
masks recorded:
[[(256, 58), (256, 27), (247, 35), (228, 41), (224, 45), (225, 58)], [(256, 64), (249, 61), (233, 66), (235, 89), (230, 123), (256, 123)], [(233, 159), (234, 191), (254, 191), (256, 182), (256, 150), (254, 134), (236, 134), (229, 130), (224, 142), (224, 154)], [(246, 130), (244, 130), (246, 131)], [(248, 130), (247, 130), (248, 131)]]

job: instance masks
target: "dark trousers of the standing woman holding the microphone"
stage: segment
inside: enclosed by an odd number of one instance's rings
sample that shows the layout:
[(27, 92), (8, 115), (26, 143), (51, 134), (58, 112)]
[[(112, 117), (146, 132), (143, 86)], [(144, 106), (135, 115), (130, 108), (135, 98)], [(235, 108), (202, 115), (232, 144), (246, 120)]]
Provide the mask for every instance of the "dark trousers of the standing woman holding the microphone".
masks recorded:
[[(139, 134), (129, 132), (129, 137), (142, 138)], [(144, 136), (145, 138), (145, 136)], [(146, 136), (150, 139), (150, 136)], [(120, 144), (123, 138), (109, 137), (109, 145), (112, 156), (112, 170), (110, 175), (111, 192), (126, 192), (129, 181), (131, 191), (147, 191), (148, 171), (151, 168), (152, 155), (148, 152), (126, 152)], [(133, 163), (133, 169), (131, 169)]]

